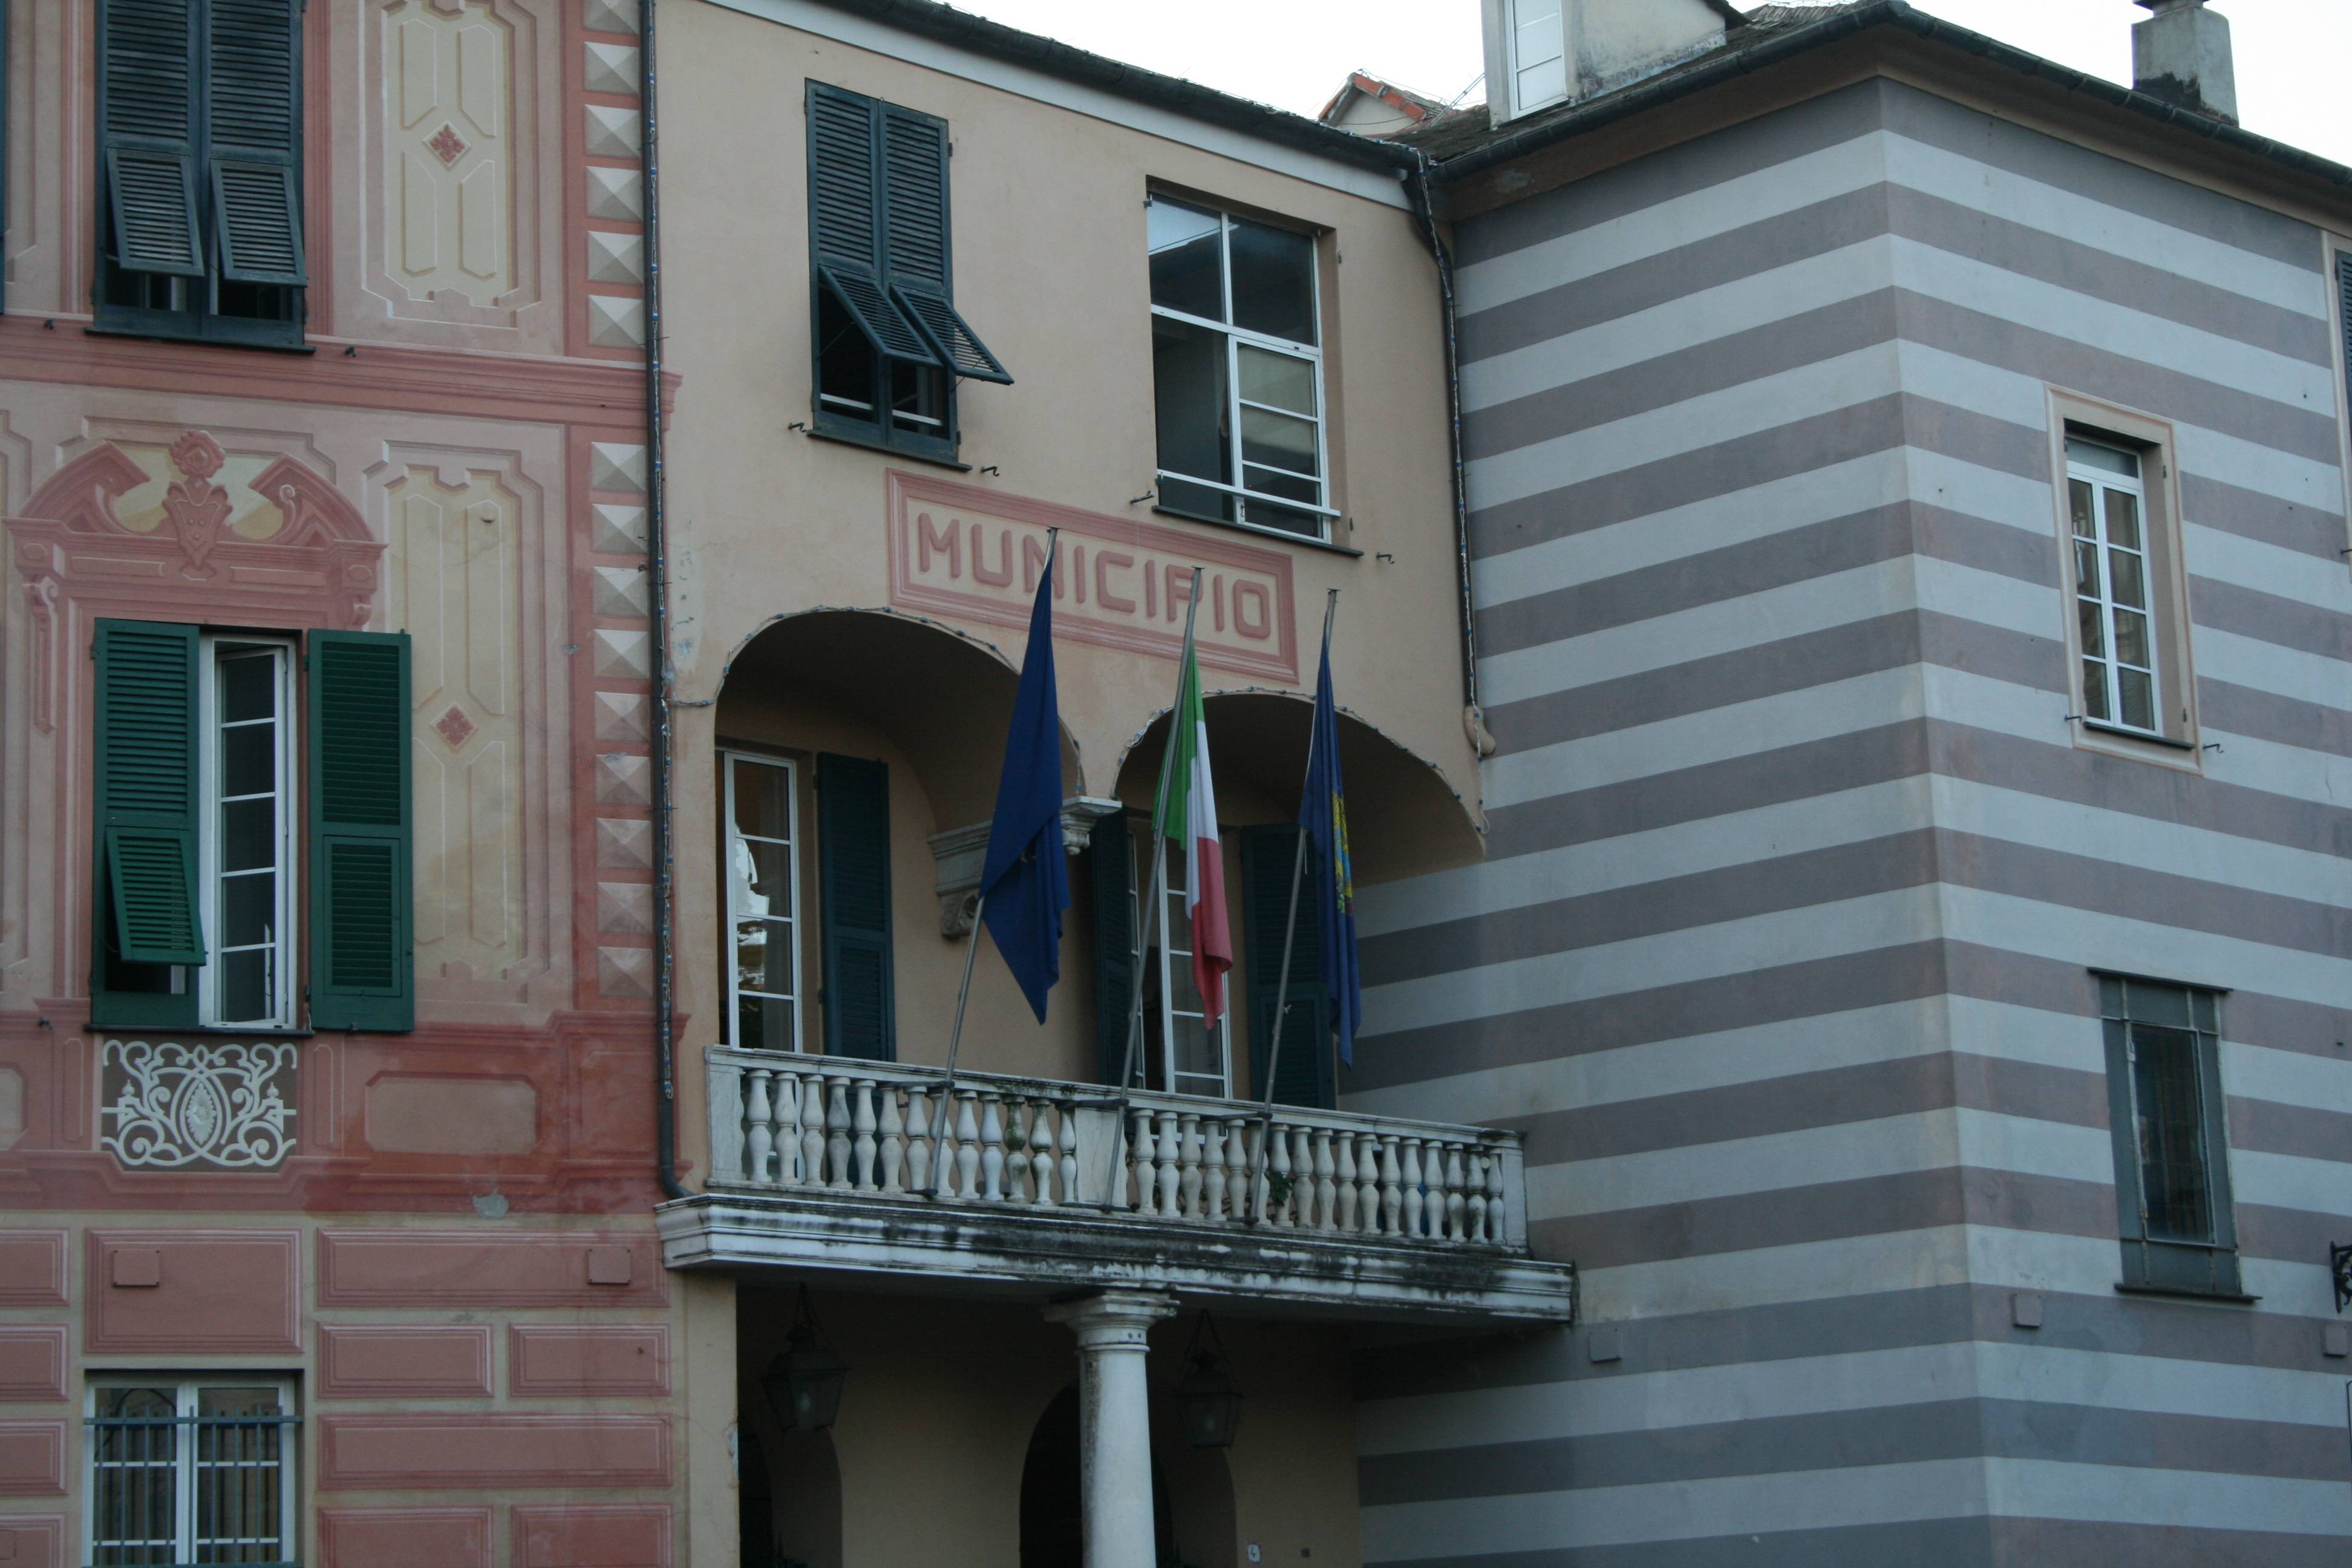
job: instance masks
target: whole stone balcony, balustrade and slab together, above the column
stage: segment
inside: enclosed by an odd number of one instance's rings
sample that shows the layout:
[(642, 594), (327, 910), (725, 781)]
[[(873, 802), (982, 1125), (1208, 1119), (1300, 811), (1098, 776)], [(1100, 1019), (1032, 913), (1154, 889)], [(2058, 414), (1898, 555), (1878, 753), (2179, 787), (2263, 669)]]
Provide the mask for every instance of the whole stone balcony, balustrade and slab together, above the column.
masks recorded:
[[(710, 1048), (708, 1192), (677, 1269), (927, 1291), (1171, 1291), (1315, 1316), (1566, 1321), (1517, 1133), (1096, 1084)], [(1256, 1182), (1251, 1171), (1263, 1168)]]

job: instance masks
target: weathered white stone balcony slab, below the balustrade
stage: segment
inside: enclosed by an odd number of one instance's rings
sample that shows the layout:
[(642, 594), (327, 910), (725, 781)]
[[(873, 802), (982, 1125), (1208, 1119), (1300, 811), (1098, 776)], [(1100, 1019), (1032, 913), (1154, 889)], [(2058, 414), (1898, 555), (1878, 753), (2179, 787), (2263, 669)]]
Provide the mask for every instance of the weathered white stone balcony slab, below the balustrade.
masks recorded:
[(1270, 1316), (1458, 1324), (1564, 1324), (1576, 1302), (1566, 1265), (1275, 1225), (818, 1192), (708, 1192), (663, 1204), (656, 1222), (673, 1269), (882, 1291), (1169, 1291)]

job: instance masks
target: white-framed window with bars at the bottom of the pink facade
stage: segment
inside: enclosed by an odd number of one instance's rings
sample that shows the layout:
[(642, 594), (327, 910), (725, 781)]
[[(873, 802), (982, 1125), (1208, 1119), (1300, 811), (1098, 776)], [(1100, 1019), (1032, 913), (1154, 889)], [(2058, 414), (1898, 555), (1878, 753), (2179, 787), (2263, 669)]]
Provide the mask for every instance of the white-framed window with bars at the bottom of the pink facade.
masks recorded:
[(230, 1373), (89, 1387), (89, 1563), (292, 1563), (294, 1389)]

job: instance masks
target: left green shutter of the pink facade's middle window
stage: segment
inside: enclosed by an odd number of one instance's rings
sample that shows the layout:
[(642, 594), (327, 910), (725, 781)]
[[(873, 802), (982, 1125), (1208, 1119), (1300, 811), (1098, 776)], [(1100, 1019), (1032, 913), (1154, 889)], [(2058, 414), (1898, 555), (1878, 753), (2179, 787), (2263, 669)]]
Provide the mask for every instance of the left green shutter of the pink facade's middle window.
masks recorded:
[(94, 654), (101, 959), (202, 964), (195, 628), (99, 621)]

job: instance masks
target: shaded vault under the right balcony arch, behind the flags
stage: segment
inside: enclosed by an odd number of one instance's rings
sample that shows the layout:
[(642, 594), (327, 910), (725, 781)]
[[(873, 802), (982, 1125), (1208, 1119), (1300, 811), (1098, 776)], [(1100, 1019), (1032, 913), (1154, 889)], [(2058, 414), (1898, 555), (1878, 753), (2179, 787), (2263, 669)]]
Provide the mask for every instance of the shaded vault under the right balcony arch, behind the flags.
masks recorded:
[[(1242, 686), (1202, 696), (1218, 816), (1287, 823), (1298, 813), (1315, 698)], [(1152, 715), (1120, 757), (1117, 797), (1148, 806), (1160, 783), (1169, 710)], [(1338, 710), (1338, 762), (1348, 780), (1348, 853), (1359, 886), (1468, 865), (1482, 853), (1470, 804), (1435, 762)]]

